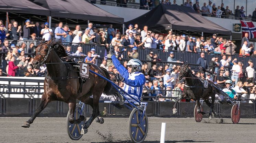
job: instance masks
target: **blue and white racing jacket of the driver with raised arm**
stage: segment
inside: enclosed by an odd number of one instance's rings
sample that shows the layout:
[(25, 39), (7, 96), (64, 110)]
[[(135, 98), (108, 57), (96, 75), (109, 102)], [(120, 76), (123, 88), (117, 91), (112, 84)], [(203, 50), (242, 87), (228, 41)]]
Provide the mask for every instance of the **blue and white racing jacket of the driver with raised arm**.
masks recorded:
[[(143, 73), (133, 72), (130, 74), (128, 70), (120, 64), (115, 55), (111, 56), (111, 58), (116, 69), (124, 77), (124, 90), (132, 97), (140, 100), (143, 86), (146, 83), (146, 78)], [(127, 99), (131, 98), (127, 97)]]

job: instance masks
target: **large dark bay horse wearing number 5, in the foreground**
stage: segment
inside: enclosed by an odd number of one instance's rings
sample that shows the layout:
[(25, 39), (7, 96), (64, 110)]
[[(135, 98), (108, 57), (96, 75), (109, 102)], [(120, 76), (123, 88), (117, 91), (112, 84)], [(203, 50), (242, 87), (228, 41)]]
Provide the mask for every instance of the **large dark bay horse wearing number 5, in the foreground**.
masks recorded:
[[(34, 49), (36, 54), (33, 61), (34, 68), (39, 69), (40, 66), (45, 63), (48, 75), (44, 81), (44, 93), (41, 102), (32, 117), (26, 121), (22, 127), (30, 127), (30, 124), (32, 124), (37, 115), (46, 108), (47, 104), (56, 100), (68, 103), (70, 112), (69, 122), (71, 124), (81, 123), (84, 117), (74, 119), (76, 100), (78, 99), (85, 104), (91, 105), (93, 108), (91, 117), (86, 121), (83, 127), (87, 131), (95, 117), (100, 114), (98, 104), (101, 94), (104, 93), (118, 97), (118, 91), (106, 80), (90, 73), (89, 79), (86, 80), (85, 84), (82, 84), (82, 92), (80, 92), (78, 69), (62, 60), (63, 58), (68, 58), (65, 46), (54, 40), (45, 41), (43, 39)], [(90, 65), (90, 70), (110, 79), (109, 73), (97, 65)], [(93, 95), (93, 98), (90, 98), (91, 95)]]

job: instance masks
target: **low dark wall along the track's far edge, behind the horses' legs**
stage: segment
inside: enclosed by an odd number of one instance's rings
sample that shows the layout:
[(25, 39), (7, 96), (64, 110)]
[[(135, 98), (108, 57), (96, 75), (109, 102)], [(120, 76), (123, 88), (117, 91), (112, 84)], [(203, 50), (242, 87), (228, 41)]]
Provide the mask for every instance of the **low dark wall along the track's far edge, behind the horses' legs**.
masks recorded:
[[(30, 117), (36, 110), (40, 103), (40, 99), (28, 99), (28, 98), (0, 98), (0, 117)], [(149, 101), (147, 107), (148, 116), (158, 117), (194, 117), (195, 103), (181, 102), (177, 105), (177, 114), (173, 114), (174, 102), (153, 102)], [(100, 103), (100, 113), (103, 114), (104, 108), (106, 108), (108, 117), (129, 117), (130, 110), (124, 108), (124, 106), (118, 105), (117, 109), (113, 104)], [(231, 105), (227, 103), (215, 103), (214, 112), (218, 117), (230, 117)], [(241, 103), (241, 118), (256, 118), (255, 103)], [(89, 105), (84, 109), (86, 116), (90, 117), (92, 114), (92, 108)], [(204, 104), (203, 111), (208, 113), (209, 107)], [(42, 111), (39, 117), (66, 117), (68, 113), (68, 104), (60, 101), (50, 102), (47, 107)], [(205, 118), (208, 114), (204, 115)]]

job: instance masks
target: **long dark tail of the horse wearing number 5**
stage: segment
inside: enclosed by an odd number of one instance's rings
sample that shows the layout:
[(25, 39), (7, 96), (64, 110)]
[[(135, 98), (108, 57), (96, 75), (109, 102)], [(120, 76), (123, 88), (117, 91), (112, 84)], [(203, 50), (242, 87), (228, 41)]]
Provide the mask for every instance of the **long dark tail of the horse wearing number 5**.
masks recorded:
[[(108, 71), (104, 68), (101, 68), (103, 70), (103, 72), (106, 75), (106, 78), (110, 80), (110, 75), (108, 73)], [(111, 83), (107, 82), (106, 86), (104, 87), (104, 91), (103, 93), (105, 95), (111, 95), (114, 96), (116, 99), (118, 99), (118, 94), (119, 91), (116, 90), (116, 88), (114, 87), (114, 85), (112, 85)]]

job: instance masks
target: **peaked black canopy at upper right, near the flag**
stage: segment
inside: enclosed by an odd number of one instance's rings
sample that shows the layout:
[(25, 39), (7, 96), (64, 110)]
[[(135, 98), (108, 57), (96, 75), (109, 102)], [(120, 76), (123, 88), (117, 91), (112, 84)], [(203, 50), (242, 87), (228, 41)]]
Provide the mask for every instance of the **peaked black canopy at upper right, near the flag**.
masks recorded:
[(153, 10), (125, 24), (147, 25), (149, 29), (175, 29), (231, 35), (230, 30), (211, 22), (190, 7), (178, 5), (159, 4)]

